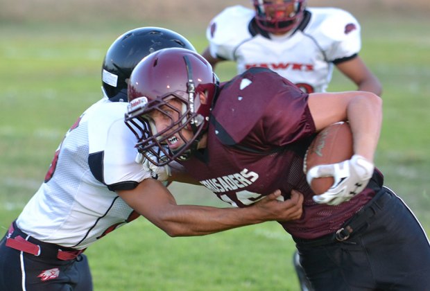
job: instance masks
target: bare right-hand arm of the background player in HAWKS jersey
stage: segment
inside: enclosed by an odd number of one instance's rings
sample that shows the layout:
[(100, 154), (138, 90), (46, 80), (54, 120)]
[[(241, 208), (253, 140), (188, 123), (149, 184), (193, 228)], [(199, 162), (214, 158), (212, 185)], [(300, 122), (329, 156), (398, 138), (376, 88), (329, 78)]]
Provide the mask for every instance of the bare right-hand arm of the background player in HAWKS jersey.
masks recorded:
[(368, 91), (381, 96), (381, 82), (358, 55), (356, 58), (336, 64), (336, 67), (357, 85), (359, 91)]

